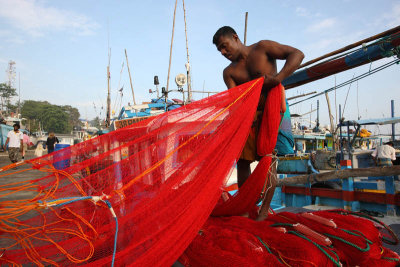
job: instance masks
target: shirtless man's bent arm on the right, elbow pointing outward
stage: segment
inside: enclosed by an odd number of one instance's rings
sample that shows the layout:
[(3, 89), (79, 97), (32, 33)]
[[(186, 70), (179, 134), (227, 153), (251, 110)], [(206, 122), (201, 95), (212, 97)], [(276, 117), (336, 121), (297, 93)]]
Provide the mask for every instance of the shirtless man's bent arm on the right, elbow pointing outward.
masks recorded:
[(270, 59), (286, 60), (285, 65), (274, 77), (266, 77), (272, 87), (289, 77), (301, 64), (303, 52), (292, 46), (283, 45), (274, 41), (261, 41), (262, 48)]

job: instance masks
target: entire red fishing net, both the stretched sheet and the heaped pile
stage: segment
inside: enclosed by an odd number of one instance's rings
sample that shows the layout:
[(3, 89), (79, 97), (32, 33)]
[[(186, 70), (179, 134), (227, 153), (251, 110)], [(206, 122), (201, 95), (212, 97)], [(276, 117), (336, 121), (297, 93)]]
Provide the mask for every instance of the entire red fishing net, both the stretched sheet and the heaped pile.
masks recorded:
[(382, 248), (376, 227), (365, 220), (365, 228), (354, 229), (362, 219), (350, 215), (320, 212), (315, 220), (281, 213), (263, 222), (235, 216), (255, 211), (269, 178), (280, 86), (268, 92), (259, 130), (264, 157), (239, 193), (220, 199), (262, 84), (257, 79), (23, 163), (14, 173), (43, 175), (0, 186), (0, 262), (171, 266), (180, 257), (186, 266), (397, 263), (399, 257)]

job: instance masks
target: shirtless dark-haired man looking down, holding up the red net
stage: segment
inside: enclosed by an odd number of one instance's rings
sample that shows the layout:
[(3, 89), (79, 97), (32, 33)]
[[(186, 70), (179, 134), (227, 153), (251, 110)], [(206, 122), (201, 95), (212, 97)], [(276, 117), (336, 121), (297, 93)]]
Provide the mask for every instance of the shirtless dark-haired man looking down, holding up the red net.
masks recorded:
[[(265, 95), (268, 90), (277, 86), (286, 77), (291, 75), (299, 67), (304, 58), (304, 54), (300, 50), (274, 41), (263, 40), (250, 46), (245, 46), (240, 41), (235, 30), (229, 26), (224, 26), (215, 33), (213, 43), (216, 45), (218, 51), (232, 62), (225, 68), (223, 73), (228, 89), (262, 76), (265, 77), (257, 108), (259, 114), (262, 114)], [(279, 73), (276, 67), (277, 59), (286, 60), (285, 65)], [(282, 93), (282, 112), (285, 112), (284, 90)], [(259, 123), (259, 120), (257, 123)], [(250, 164), (258, 159), (255, 143), (257, 140), (256, 135), (257, 131), (255, 131), (253, 136), (250, 134), (237, 163), (239, 187), (250, 176)], [(273, 195), (274, 190), (271, 191)], [(271, 199), (272, 195), (270, 196)], [(267, 198), (269, 197), (267, 196)]]

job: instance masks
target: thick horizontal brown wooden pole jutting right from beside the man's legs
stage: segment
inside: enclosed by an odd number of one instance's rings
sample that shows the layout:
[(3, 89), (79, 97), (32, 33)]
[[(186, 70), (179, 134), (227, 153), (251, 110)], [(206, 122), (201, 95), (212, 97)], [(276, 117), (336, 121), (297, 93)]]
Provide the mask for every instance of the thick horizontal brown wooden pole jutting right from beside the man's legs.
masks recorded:
[(346, 179), (349, 177), (378, 177), (393, 176), (400, 174), (400, 165), (387, 167), (372, 167), (363, 169), (343, 169), (318, 174), (305, 174), (294, 177), (284, 178), (278, 181), (278, 186), (304, 184), (312, 182), (323, 182), (333, 179)]

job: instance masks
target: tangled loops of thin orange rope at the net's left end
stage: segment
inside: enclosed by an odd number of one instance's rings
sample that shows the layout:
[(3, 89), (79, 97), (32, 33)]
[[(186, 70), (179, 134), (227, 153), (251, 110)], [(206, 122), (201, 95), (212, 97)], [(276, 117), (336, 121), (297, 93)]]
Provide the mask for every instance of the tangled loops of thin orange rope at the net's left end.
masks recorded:
[[(11, 169), (15, 165), (16, 164), (8, 165), (8, 166), (2, 168), (2, 170), (0, 172)], [(15, 171), (12, 173), (1, 174), (0, 177), (18, 174), (18, 173), (26, 172), (26, 171), (33, 170), (33, 169), (34, 168), (28, 168), (28, 169), (24, 169), (24, 170)], [(86, 227), (88, 227), (89, 229), (91, 229), (95, 236), (98, 236), (94, 227), (87, 220), (85, 220), (82, 216), (80, 216), (77, 213), (74, 213), (73, 211), (71, 211), (68, 208), (66, 208), (66, 210), (68, 210), (70, 212), (70, 214), (72, 214), (76, 219), (63, 218), (57, 213), (57, 211), (55, 211), (54, 209), (52, 209), (50, 207), (51, 212), (53, 212), (59, 218), (59, 220), (52, 222), (50, 224), (47, 224), (46, 216), (40, 211), (40, 209), (43, 207), (41, 207), (41, 205), (38, 204), (36, 201), (32, 202), (32, 200), (35, 200), (35, 199), (42, 200), (42, 202), (43, 202), (42, 206), (46, 206), (46, 200), (54, 199), (55, 193), (57, 192), (58, 187), (59, 187), (59, 182), (60, 182), (61, 176), (66, 177), (75, 186), (75, 188), (82, 194), (82, 196), (87, 196), (87, 194), (83, 191), (83, 189), (81, 188), (79, 183), (76, 181), (76, 179), (72, 175), (70, 175), (69, 173), (67, 173), (65, 171), (57, 170), (52, 165), (49, 165), (49, 167), (46, 167), (46, 168), (38, 168), (38, 170), (42, 171), (42, 172), (52, 173), (55, 177), (54, 182), (51, 184), (50, 188), (47, 188), (46, 191), (42, 190), (39, 185), (34, 184), (34, 181), (14, 182), (14, 183), (0, 186), (0, 192), (5, 192), (5, 193), (0, 194), (0, 197), (10, 196), (13, 194), (17, 194), (21, 191), (37, 191), (38, 192), (36, 194), (36, 196), (34, 196), (34, 198), (30, 199), (30, 200), (19, 199), (19, 200), (3, 201), (1, 203), (2, 207), (0, 208), (0, 225), (2, 227), (2, 231), (12, 235), (13, 238), (12, 237), (10, 237), (10, 238), (15, 240), (15, 242), (13, 244), (11, 244), (5, 248), (1, 248), (1, 249), (7, 250), (12, 247), (15, 247), (16, 245), (19, 245), (24, 250), (27, 258), (30, 261), (32, 261), (33, 263), (35, 263), (36, 265), (44, 266), (42, 264), (42, 262), (45, 262), (46, 265), (51, 264), (51, 265), (58, 266), (58, 264), (55, 261), (40, 256), (40, 254), (36, 251), (35, 246), (32, 243), (32, 239), (33, 240), (41, 240), (41, 241), (45, 241), (45, 242), (49, 242), (49, 243), (53, 244), (59, 250), (59, 252), (61, 254), (65, 255), (66, 258), (68, 258), (73, 263), (79, 264), (79, 263), (83, 263), (83, 262), (87, 261), (94, 254), (94, 245), (91, 241), (91, 239), (93, 239), (93, 237), (84, 233), (85, 230), (82, 228), (81, 224), (83, 224)], [(6, 192), (6, 191), (8, 191), (8, 192)], [(54, 201), (50, 201), (50, 203), (59, 204), (59, 203), (67, 202), (67, 201), (68, 200), (54, 200)], [(96, 205), (101, 205), (101, 204), (96, 203)], [(36, 212), (39, 212), (39, 214), (42, 216), (43, 221), (44, 221), (43, 225), (33, 227), (33, 226), (19, 222), (18, 217), (20, 217), (24, 214), (27, 214), (28, 212), (34, 211), (34, 210)], [(57, 224), (66, 222), (66, 221), (70, 222), (70, 224), (74, 225), (77, 228), (77, 230), (74, 230), (71, 228), (56, 228), (55, 227)], [(55, 227), (55, 228), (50, 228), (50, 227)], [(77, 238), (87, 242), (87, 244), (89, 246), (88, 255), (83, 259), (78, 259), (78, 258), (74, 257), (68, 251), (66, 251), (63, 247), (61, 247), (56, 241), (54, 241), (52, 238), (50, 238), (48, 236), (48, 234), (52, 234), (52, 233), (68, 234), (68, 235), (77, 237)], [(43, 236), (43, 237), (41, 237), (41, 236)], [(5, 258), (2, 258), (1, 260), (7, 261), (11, 264), (14, 264), (13, 262), (6, 260)], [(14, 264), (14, 265), (17, 265), (17, 264)]]

